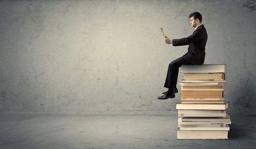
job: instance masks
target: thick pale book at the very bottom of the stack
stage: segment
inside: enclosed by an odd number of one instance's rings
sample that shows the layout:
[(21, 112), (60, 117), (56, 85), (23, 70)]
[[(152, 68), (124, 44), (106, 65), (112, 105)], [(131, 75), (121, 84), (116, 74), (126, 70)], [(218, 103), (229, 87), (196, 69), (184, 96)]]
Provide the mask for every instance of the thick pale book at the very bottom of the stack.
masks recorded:
[(177, 130), (177, 139), (228, 139), (228, 132), (227, 130)]

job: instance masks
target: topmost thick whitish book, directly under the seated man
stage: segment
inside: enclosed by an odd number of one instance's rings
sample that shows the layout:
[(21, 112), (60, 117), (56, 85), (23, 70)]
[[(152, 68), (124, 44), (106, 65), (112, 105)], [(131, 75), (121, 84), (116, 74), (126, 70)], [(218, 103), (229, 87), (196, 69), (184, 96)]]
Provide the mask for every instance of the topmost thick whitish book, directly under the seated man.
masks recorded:
[(226, 73), (226, 64), (182, 65), (180, 73)]

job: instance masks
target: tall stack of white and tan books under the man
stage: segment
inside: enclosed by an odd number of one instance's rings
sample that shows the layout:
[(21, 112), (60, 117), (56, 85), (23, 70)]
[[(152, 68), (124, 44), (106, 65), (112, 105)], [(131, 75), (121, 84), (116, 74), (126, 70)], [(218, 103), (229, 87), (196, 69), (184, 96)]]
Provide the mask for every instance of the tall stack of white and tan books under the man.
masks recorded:
[(224, 101), (226, 65), (183, 65), (177, 139), (228, 139), (229, 103)]

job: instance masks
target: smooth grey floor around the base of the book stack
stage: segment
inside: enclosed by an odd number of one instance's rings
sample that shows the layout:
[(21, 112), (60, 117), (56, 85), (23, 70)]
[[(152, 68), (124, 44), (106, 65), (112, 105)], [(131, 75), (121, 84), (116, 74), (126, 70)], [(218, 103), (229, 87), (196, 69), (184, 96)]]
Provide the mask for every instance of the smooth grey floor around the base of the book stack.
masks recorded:
[(0, 148), (256, 148), (256, 117), (230, 116), (227, 140), (178, 140), (177, 116), (0, 116)]

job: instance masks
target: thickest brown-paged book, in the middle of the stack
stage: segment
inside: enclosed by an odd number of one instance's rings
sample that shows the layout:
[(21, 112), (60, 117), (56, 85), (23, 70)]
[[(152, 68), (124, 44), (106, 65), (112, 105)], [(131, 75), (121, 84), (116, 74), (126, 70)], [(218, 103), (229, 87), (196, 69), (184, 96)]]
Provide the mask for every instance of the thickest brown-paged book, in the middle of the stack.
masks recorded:
[(182, 91), (181, 99), (221, 99), (223, 91)]

